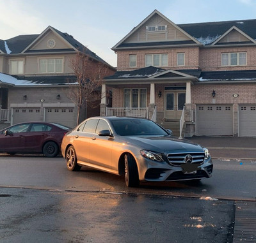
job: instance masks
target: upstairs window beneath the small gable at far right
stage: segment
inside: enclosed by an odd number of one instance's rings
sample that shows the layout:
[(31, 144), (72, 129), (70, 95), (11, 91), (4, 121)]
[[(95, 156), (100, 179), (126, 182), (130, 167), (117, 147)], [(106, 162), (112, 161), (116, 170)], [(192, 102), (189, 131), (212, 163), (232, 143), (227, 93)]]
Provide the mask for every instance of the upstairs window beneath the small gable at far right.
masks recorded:
[(221, 66), (246, 65), (246, 52), (232, 52), (221, 54)]

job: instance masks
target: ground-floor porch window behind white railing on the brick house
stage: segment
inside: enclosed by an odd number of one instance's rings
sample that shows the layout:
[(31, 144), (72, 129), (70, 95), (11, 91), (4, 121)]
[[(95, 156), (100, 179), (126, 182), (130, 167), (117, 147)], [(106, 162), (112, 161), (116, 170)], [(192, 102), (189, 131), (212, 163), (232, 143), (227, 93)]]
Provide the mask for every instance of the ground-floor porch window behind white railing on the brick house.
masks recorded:
[(145, 108), (147, 89), (124, 89), (124, 107)]

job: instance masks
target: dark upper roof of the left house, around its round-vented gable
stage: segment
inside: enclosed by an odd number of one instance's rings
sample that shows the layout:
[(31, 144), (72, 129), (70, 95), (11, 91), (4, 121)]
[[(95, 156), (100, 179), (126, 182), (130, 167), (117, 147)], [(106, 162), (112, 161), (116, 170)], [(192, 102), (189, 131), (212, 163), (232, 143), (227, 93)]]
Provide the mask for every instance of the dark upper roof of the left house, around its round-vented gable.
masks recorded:
[[(30, 50), (29, 48), (32, 47), (36, 41), (40, 40), (42, 36), (44, 36), (47, 31), (52, 31), (60, 38), (65, 41), (65, 43), (70, 46), (68, 49), (46, 49), (46, 50)], [(4, 42), (6, 42), (6, 46), (4, 45)], [(6, 50), (8, 48), (8, 50)], [(2, 52), (1, 52), (2, 51)], [(29, 53), (36, 53), (36, 52), (74, 52), (74, 51), (80, 51), (84, 52), (85, 54), (89, 55), (96, 61), (100, 61), (101, 63), (104, 63), (108, 66), (111, 67), (106, 61), (104, 61), (102, 58), (99, 57), (99, 55), (95, 54), (92, 52), (90, 49), (85, 47), (82, 43), (77, 41), (73, 36), (71, 36), (68, 33), (63, 33), (59, 31), (58, 29), (55, 29), (54, 27), (48, 26), (41, 34), (24, 34), (24, 35), (19, 35), (15, 36), (13, 38), (10, 38), (8, 40), (0, 40), (0, 54), (29, 54)]]

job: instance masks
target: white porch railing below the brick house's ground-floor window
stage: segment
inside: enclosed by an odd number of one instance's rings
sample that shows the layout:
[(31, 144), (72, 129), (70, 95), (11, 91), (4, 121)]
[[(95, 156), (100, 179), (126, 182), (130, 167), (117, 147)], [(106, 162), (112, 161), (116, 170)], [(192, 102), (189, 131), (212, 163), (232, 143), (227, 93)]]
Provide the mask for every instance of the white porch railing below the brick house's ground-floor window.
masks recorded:
[(113, 108), (107, 107), (106, 115), (112, 116), (115, 115), (117, 117), (142, 117), (148, 118), (148, 108)]

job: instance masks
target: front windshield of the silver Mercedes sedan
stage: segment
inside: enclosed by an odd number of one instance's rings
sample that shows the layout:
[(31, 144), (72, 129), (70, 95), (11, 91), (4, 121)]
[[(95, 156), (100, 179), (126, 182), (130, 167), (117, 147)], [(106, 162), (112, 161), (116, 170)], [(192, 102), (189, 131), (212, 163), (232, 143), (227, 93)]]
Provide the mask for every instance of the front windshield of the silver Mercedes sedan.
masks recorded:
[(116, 119), (111, 122), (116, 133), (120, 136), (168, 135), (156, 123), (146, 119)]

